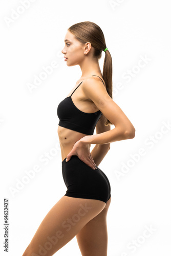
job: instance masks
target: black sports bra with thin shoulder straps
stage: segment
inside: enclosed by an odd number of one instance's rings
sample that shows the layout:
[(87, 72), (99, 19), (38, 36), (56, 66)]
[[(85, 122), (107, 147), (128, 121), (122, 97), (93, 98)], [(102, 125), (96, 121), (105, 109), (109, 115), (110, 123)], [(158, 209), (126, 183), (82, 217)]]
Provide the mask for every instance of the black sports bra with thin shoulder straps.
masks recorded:
[[(80, 86), (80, 84), (77, 86), (77, 88)], [(85, 113), (80, 111), (72, 101), (71, 96), (73, 93), (69, 97), (63, 99), (57, 107), (57, 115), (59, 118), (58, 125), (79, 133), (93, 135), (95, 126), (102, 113), (100, 110), (94, 113)]]

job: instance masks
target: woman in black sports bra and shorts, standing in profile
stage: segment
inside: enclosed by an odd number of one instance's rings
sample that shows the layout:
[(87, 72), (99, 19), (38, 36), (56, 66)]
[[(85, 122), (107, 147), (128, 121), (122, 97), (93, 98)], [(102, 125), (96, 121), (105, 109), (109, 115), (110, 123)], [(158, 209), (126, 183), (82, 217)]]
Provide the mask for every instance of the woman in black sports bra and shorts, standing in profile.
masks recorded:
[[(103, 74), (98, 62), (102, 51)], [(134, 138), (135, 128), (112, 99), (112, 58), (100, 27), (92, 22), (71, 26), (62, 53), (67, 66), (79, 65), (82, 71), (57, 108), (67, 192), (42, 220), (23, 256), (53, 255), (75, 236), (82, 255), (105, 256), (111, 187), (98, 165), (110, 143)], [(96, 144), (92, 152), (91, 144)]]

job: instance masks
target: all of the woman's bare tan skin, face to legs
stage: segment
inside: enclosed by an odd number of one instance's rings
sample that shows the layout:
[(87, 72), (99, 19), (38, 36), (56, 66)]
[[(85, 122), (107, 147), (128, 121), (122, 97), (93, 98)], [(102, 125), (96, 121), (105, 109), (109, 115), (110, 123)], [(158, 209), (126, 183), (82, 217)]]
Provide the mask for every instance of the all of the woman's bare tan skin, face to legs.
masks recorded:
[[(97, 75), (102, 78), (102, 74), (98, 60), (93, 58), (94, 49), (91, 43), (81, 45), (69, 31), (67, 31), (65, 40), (62, 53), (68, 58), (67, 66), (79, 65), (82, 71), (75, 87), (66, 97), (70, 96), (78, 84), (83, 81), (72, 95), (76, 107), (86, 113), (100, 110), (115, 125), (113, 130), (111, 130), (111, 125), (105, 126), (105, 118), (102, 115), (96, 125), (96, 135), (86, 135), (58, 126), (62, 161), (66, 157), (70, 161), (72, 155), (77, 155), (93, 169), (95, 164), (98, 166), (108, 153), (111, 142), (134, 138), (135, 129), (106, 92), (105, 83), (103, 84), (99, 77), (92, 77), (92, 75)], [(95, 144), (92, 152), (90, 152), (91, 144)], [(32, 256), (33, 253), (42, 255), (39, 254), (40, 246), (44, 249), (51, 246), (51, 249), (47, 249), (44, 255), (52, 256), (75, 236), (82, 256), (107, 256), (106, 216), (110, 203), (111, 198), (105, 204), (101, 200), (62, 196), (38, 226), (23, 256)], [(86, 215), (80, 205), (90, 207)], [(73, 216), (78, 212), (81, 212), (80, 220), (70, 225), (69, 231), (63, 228), (61, 224), (66, 220), (73, 220)], [(62, 233), (61, 237), (56, 233), (57, 230)], [(52, 243), (50, 238), (58, 241)]]

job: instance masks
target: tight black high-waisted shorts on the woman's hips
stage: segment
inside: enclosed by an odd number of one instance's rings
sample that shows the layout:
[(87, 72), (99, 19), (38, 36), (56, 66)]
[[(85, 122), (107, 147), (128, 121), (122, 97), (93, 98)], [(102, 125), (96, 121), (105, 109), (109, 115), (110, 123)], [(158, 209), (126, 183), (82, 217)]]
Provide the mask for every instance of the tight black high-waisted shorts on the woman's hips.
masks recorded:
[(92, 169), (76, 155), (68, 162), (66, 158), (62, 161), (62, 176), (67, 186), (65, 196), (97, 199), (105, 203), (111, 197), (110, 182), (102, 170), (99, 167)]

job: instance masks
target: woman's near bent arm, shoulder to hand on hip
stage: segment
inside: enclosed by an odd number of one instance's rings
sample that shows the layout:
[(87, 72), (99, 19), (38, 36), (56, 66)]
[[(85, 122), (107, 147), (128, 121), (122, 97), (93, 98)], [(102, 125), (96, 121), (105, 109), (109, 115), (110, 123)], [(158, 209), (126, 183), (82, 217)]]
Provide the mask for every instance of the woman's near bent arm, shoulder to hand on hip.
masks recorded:
[[(115, 128), (96, 135), (87, 135), (78, 140), (73, 150), (68, 154), (68, 160), (72, 155), (80, 155), (82, 161), (86, 159), (89, 166), (93, 166), (93, 159), (89, 153), (91, 144), (108, 144), (119, 140), (132, 139), (135, 137), (135, 128), (129, 118), (109, 96), (101, 82), (93, 77), (82, 82), (82, 90), (90, 98), (101, 113), (108, 118)], [(97, 93), (98, 92), (98, 93)]]

